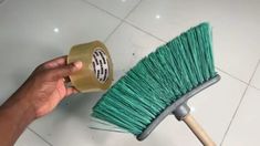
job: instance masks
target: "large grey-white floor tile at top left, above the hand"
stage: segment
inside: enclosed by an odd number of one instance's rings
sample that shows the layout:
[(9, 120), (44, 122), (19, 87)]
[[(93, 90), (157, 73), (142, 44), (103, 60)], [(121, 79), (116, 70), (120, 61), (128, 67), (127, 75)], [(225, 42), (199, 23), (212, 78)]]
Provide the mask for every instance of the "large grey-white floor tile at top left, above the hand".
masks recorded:
[(74, 44), (104, 41), (119, 23), (81, 0), (8, 0), (0, 20), (1, 103), (38, 64)]

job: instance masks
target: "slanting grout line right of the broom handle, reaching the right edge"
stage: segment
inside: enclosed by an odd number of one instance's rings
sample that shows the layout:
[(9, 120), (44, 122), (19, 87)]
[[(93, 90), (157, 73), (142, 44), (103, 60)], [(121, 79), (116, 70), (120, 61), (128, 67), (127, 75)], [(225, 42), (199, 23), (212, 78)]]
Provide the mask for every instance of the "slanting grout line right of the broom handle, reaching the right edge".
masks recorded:
[(227, 131), (226, 131), (225, 134), (223, 134), (223, 137), (222, 137), (222, 140), (221, 140), (221, 143), (220, 143), (220, 146), (223, 144), (223, 142), (225, 142), (225, 139), (226, 139), (226, 137), (227, 137), (227, 135), (228, 135), (228, 132), (229, 132), (229, 129), (230, 129), (230, 127), (231, 127), (231, 125), (232, 125), (232, 122), (233, 122), (235, 117), (236, 117), (237, 114), (238, 114), (238, 109), (239, 109), (239, 107), (241, 106), (241, 103), (242, 103), (242, 101), (243, 101), (243, 98), (245, 98), (245, 95), (246, 95), (246, 93), (247, 93), (247, 91), (248, 91), (248, 87), (250, 86), (250, 83), (251, 83), (251, 81), (252, 81), (252, 79), (253, 79), (253, 76), (254, 76), (254, 74), (256, 74), (256, 72), (257, 72), (257, 69), (258, 69), (259, 64), (260, 64), (260, 61), (258, 61), (258, 64), (256, 65), (254, 71), (253, 71), (253, 73), (252, 73), (252, 75), (251, 75), (251, 77), (250, 77), (250, 80), (249, 80), (249, 84), (247, 84), (247, 87), (246, 87), (246, 90), (243, 91), (243, 94), (242, 94), (242, 96), (241, 96), (241, 98), (240, 98), (240, 101), (239, 101), (239, 103), (238, 103), (238, 106), (237, 106), (237, 108), (236, 108), (236, 111), (235, 111), (235, 113), (233, 113), (233, 115), (232, 115), (232, 118), (231, 118), (231, 121), (229, 122), (228, 128), (227, 128)]

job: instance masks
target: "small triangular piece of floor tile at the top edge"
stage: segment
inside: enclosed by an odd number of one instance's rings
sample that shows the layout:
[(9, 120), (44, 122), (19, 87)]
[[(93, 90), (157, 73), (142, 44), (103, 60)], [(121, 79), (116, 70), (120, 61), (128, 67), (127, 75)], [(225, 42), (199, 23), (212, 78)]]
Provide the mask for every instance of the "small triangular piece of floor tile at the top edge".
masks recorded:
[(124, 19), (141, 0), (85, 0)]

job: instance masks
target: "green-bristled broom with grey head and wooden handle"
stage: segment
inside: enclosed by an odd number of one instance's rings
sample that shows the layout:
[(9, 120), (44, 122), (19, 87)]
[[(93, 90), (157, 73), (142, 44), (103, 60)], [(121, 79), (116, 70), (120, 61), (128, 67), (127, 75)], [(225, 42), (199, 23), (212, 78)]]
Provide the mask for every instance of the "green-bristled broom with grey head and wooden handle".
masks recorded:
[(187, 101), (220, 80), (211, 28), (204, 22), (159, 46), (118, 80), (93, 107), (94, 118), (146, 138), (169, 114), (207, 146), (215, 143), (189, 114)]

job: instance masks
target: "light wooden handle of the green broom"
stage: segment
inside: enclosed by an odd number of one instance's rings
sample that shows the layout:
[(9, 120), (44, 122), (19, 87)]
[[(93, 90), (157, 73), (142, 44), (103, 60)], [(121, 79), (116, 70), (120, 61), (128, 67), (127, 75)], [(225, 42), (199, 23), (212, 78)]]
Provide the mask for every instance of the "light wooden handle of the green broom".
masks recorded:
[(199, 124), (190, 114), (187, 114), (183, 121), (188, 125), (188, 127), (205, 146), (216, 146), (212, 139), (207, 135), (202, 127), (199, 126)]

